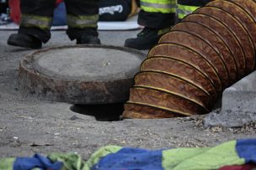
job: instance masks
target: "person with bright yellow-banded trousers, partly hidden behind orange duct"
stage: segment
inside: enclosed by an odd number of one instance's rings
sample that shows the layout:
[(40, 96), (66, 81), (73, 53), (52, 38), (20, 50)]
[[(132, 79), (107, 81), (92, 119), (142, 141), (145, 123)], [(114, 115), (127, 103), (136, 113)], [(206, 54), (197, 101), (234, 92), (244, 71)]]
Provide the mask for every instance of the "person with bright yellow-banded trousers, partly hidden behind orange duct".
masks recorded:
[[(141, 0), (138, 23), (145, 26), (136, 38), (126, 39), (125, 47), (131, 49), (151, 49), (164, 33), (195, 9), (205, 6), (211, 0)], [(178, 3), (178, 5), (177, 5)], [(178, 6), (178, 7), (177, 7)]]

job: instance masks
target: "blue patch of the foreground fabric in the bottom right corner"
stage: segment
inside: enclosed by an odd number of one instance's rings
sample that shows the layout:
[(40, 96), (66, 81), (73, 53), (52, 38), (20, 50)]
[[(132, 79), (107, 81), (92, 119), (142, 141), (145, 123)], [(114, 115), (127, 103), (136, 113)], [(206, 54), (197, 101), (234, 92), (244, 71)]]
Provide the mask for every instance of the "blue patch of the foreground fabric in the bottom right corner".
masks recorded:
[(256, 163), (256, 139), (239, 139), (236, 149), (238, 156), (244, 158), (246, 163)]

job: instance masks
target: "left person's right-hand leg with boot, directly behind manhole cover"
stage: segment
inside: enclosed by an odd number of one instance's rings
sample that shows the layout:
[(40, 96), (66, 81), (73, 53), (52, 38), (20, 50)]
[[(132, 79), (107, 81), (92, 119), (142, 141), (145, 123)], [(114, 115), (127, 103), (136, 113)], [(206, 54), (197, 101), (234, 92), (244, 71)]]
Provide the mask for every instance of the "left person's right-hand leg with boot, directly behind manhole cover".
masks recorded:
[(99, 0), (65, 0), (67, 35), (77, 44), (100, 44), (97, 32)]

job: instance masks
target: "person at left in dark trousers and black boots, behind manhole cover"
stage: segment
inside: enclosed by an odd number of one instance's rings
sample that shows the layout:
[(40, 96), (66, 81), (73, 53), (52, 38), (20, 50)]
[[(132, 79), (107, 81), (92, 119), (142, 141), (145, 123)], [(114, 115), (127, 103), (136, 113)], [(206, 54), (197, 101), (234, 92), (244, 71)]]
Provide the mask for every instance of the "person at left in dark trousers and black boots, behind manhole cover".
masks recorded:
[[(55, 0), (21, 0), (19, 33), (8, 38), (8, 44), (40, 49), (51, 38), (50, 28)], [(97, 31), (99, 0), (65, 0), (67, 35), (77, 44), (100, 44)]]

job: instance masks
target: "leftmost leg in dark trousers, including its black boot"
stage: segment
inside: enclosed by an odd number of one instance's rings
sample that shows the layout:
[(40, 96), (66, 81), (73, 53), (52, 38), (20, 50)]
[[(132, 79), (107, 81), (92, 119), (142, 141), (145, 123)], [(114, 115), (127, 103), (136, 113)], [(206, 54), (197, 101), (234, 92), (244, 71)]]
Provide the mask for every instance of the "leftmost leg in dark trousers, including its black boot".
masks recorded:
[(54, 5), (54, 0), (21, 0), (19, 33), (12, 34), (8, 44), (40, 48), (41, 42), (46, 43), (51, 38), (50, 28)]

